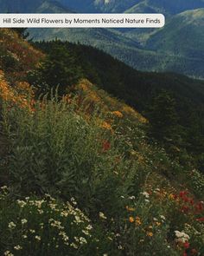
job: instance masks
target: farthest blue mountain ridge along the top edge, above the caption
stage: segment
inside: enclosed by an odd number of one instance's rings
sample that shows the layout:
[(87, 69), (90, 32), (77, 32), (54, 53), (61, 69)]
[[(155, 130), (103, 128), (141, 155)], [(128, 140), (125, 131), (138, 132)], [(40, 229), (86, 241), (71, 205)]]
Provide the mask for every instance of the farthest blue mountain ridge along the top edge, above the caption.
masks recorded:
[(162, 12), (165, 15), (175, 15), (185, 10), (204, 7), (202, 0), (61, 0), (65, 6), (70, 6), (79, 12)]

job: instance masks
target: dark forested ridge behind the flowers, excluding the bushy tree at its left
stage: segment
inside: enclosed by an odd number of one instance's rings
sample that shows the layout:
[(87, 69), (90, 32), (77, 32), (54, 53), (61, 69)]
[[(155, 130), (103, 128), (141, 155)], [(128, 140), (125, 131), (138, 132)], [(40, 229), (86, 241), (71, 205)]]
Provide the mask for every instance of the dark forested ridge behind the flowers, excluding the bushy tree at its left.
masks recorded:
[[(173, 102), (175, 105), (173, 107), (174, 115), (179, 116), (176, 121), (176, 131), (174, 131), (176, 144), (173, 143), (173, 146), (176, 147), (169, 148), (168, 151), (175, 157), (175, 154), (178, 153), (176, 148), (179, 146), (182, 151), (180, 153), (182, 164), (185, 161), (191, 161), (196, 167), (200, 167), (202, 172), (201, 154), (204, 150), (203, 82), (173, 73), (139, 72), (126, 66), (123, 62), (118, 62), (99, 49), (92, 49), (92, 47), (80, 44), (58, 41), (57, 43), (35, 43), (35, 46), (49, 54), (52, 53), (56, 44), (61, 45), (73, 56), (75, 65), (80, 66), (84, 77), (95, 82), (99, 88), (124, 100), (146, 117), (149, 116), (153, 100), (161, 91), (166, 91), (175, 101)], [(163, 106), (166, 106), (165, 103)], [(157, 115), (159, 115), (161, 109), (157, 110), (159, 111)], [(163, 108), (163, 115), (166, 115), (164, 110), (165, 108)]]

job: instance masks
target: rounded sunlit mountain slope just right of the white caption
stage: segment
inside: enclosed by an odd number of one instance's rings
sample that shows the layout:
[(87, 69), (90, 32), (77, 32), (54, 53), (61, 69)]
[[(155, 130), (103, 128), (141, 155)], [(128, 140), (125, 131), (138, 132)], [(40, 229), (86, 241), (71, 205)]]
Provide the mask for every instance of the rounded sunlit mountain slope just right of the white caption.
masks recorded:
[(175, 56), (203, 59), (203, 30), (204, 9), (188, 10), (171, 18), (165, 30), (159, 30), (150, 36), (146, 47)]

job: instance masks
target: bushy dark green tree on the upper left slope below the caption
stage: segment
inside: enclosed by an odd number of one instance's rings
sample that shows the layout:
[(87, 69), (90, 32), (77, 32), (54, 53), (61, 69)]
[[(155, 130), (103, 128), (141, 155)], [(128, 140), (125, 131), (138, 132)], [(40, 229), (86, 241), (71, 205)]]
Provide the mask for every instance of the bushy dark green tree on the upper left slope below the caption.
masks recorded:
[(81, 77), (81, 69), (77, 65), (76, 57), (70, 54), (66, 47), (55, 41), (38, 67), (29, 73), (29, 82), (39, 90), (38, 94), (45, 94), (50, 89), (58, 88), (58, 94), (63, 95), (67, 87), (76, 84)]

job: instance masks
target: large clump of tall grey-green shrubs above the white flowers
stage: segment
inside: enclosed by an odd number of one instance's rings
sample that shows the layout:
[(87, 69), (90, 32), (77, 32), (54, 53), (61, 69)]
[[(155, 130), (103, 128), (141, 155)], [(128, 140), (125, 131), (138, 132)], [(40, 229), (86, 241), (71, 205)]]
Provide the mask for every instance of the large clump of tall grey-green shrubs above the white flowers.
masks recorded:
[(37, 101), (34, 108), (4, 112), (15, 193), (75, 197), (89, 210), (117, 213), (120, 195), (136, 193), (145, 170), (141, 175), (137, 161), (119, 152), (115, 136), (100, 127), (97, 111), (85, 115), (75, 100), (67, 104), (57, 98)]

